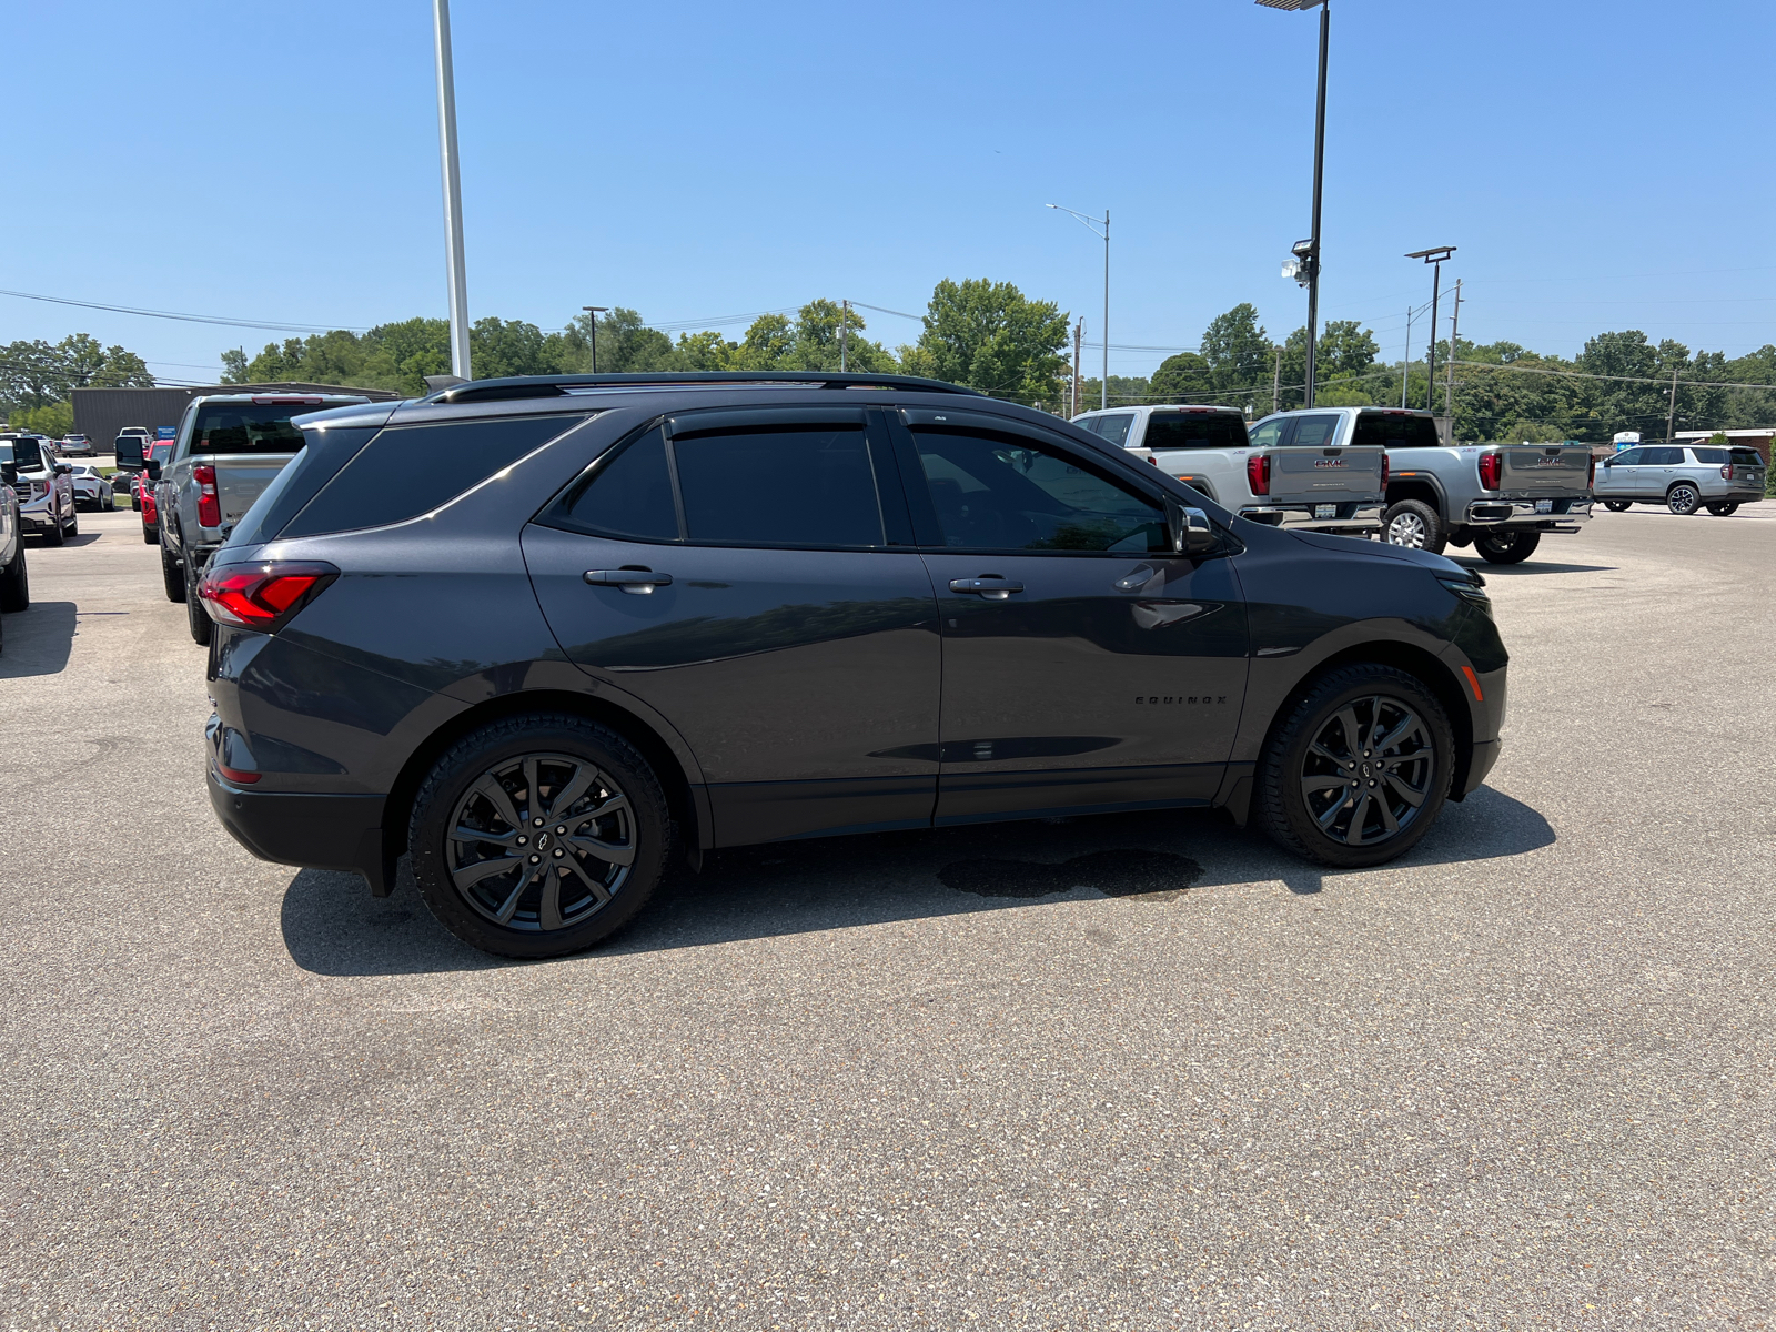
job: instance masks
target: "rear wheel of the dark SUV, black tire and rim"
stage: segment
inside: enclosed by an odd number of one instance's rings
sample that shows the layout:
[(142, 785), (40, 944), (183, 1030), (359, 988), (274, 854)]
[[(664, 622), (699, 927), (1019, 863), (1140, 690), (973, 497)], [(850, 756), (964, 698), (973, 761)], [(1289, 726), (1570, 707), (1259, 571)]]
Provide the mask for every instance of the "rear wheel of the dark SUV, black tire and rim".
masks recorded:
[[(503, 801), (488, 794), (496, 787)], [(558, 796), (572, 797), (565, 812)], [(536, 801), (547, 801), (543, 822)], [(588, 826), (597, 845), (618, 854), (575, 849), (591, 838), (559, 831)], [(490, 840), (456, 838), (458, 828), (487, 829)], [(536, 840), (520, 849), (519, 836)], [(551, 845), (558, 836), (563, 844)], [(496, 721), (453, 744), (421, 783), (407, 831), (414, 881), (432, 915), (464, 943), (501, 957), (559, 957), (611, 938), (646, 906), (673, 838), (648, 762), (607, 726), (563, 712)], [(474, 874), (496, 861), (510, 868)]]

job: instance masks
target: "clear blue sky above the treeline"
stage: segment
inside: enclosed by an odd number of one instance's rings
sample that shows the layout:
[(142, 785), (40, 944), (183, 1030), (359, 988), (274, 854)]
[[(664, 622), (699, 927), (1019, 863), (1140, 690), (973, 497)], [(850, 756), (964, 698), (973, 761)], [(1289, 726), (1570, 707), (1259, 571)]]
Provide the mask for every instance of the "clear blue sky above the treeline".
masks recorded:
[[(1279, 265), (1309, 229), (1312, 14), (455, 0), (453, 18), (472, 318), (916, 313), (941, 277), (991, 277), (1083, 313), (1096, 341), (1103, 252), (1058, 202), (1112, 211), (1115, 373), (1165, 355), (1121, 348), (1195, 346), (1240, 300), (1277, 337), (1304, 320)], [(0, 288), (329, 327), (444, 314), (426, 0), (4, 0), (0, 23)], [(1456, 245), (1446, 284), (1463, 279), (1479, 341), (1776, 341), (1772, 36), (1767, 5), (1733, 0), (1337, 0), (1323, 318), (1398, 357), (1430, 295), (1401, 254)], [(865, 314), (890, 346), (918, 334)], [(73, 330), (188, 380), (282, 336), (0, 297), (0, 343)]]

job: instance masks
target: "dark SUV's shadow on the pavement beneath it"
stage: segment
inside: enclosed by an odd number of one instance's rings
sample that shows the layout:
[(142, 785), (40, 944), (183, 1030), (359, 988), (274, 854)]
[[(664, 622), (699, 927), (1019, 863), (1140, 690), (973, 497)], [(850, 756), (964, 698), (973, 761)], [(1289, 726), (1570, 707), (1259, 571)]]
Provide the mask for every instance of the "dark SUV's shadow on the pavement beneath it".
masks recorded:
[[(1481, 787), (1449, 805), (1412, 852), (1376, 872), (1520, 856), (1552, 844), (1547, 819)], [(1280, 881), (1291, 893), (1309, 895), (1323, 888), (1328, 874), (1337, 872), (1304, 865), (1208, 810), (773, 842), (712, 852), (702, 874), (680, 867), (645, 916), (583, 955), (662, 952), (1057, 900), (1181, 902), (1193, 888), (1218, 884)], [(503, 961), (455, 940), (419, 902), (405, 860), (387, 899), (369, 897), (355, 874), (298, 872), (284, 892), (282, 932), (291, 961), (318, 975), (547, 964)]]

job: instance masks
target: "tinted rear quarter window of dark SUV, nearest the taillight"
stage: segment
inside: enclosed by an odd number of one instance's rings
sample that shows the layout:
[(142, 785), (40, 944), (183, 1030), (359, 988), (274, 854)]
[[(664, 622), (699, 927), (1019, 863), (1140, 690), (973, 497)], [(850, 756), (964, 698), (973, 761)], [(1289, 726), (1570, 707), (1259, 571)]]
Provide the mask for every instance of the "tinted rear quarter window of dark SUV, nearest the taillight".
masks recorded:
[(545, 416), (384, 430), (281, 535), (318, 536), (417, 519), (581, 419)]

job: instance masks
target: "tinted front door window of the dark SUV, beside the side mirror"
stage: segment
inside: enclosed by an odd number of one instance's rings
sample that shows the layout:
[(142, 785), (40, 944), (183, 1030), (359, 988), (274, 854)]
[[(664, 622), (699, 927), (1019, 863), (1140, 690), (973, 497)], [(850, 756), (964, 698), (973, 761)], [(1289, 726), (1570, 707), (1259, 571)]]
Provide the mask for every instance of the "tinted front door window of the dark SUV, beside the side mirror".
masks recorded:
[(1032, 440), (918, 430), (945, 545), (979, 551), (1169, 551), (1165, 510)]

